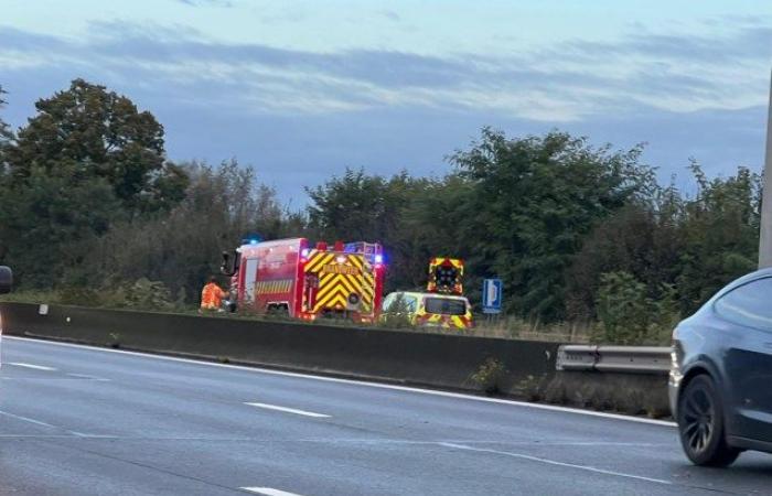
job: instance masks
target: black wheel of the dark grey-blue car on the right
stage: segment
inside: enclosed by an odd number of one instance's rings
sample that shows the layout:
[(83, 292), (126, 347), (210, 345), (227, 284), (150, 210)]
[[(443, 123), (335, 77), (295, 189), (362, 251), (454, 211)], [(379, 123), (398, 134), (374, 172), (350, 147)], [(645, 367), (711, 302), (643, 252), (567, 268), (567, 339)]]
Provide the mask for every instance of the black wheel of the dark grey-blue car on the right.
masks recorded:
[(727, 466), (740, 450), (727, 444), (723, 409), (710, 377), (691, 379), (678, 400), (678, 433), (686, 456), (696, 465)]

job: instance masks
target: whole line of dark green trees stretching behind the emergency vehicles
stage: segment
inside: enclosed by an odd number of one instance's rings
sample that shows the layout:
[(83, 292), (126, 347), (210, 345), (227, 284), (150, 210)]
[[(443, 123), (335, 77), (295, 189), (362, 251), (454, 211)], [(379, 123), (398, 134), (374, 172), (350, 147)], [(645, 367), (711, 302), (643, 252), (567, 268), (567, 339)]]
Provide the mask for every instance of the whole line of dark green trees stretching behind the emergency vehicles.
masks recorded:
[(378, 240), (388, 290), (421, 288), (430, 257), (457, 256), (474, 302), (496, 276), (508, 314), (600, 317), (633, 342), (755, 267), (761, 181), (743, 168), (709, 179), (693, 162), (687, 194), (658, 184), (640, 147), (484, 129), (446, 176), (349, 170), (290, 212), (235, 160), (167, 160), (156, 118), (101, 86), (74, 80), (36, 110), (17, 132), (0, 121), (0, 262), (22, 289), (81, 303), (193, 305), (247, 234)]

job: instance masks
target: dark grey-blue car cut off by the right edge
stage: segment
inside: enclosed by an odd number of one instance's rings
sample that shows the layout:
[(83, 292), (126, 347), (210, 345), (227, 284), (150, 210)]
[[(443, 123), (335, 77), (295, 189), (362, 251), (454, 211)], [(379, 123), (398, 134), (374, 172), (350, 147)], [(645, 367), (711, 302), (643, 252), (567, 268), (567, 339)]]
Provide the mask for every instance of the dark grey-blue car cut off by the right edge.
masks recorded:
[(669, 399), (686, 456), (772, 453), (772, 269), (736, 280), (673, 332)]

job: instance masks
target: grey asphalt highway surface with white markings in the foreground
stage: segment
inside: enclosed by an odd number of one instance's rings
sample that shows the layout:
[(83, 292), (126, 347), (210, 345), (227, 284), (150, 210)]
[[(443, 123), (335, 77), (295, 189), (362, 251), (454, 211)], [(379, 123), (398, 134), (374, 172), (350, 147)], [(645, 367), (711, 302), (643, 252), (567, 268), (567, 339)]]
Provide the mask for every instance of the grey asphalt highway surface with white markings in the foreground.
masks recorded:
[(772, 494), (675, 429), (559, 408), (3, 338), (2, 495)]

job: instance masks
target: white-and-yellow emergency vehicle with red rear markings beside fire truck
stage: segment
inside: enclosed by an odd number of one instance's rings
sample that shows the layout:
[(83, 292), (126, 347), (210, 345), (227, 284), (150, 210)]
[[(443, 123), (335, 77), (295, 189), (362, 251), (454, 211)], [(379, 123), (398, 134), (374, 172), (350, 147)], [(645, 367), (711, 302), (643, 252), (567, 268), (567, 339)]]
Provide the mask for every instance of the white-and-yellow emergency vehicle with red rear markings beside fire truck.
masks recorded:
[(454, 294), (410, 291), (389, 293), (384, 299), (382, 319), (400, 314), (417, 326), (464, 330), (473, 325), (469, 300)]

